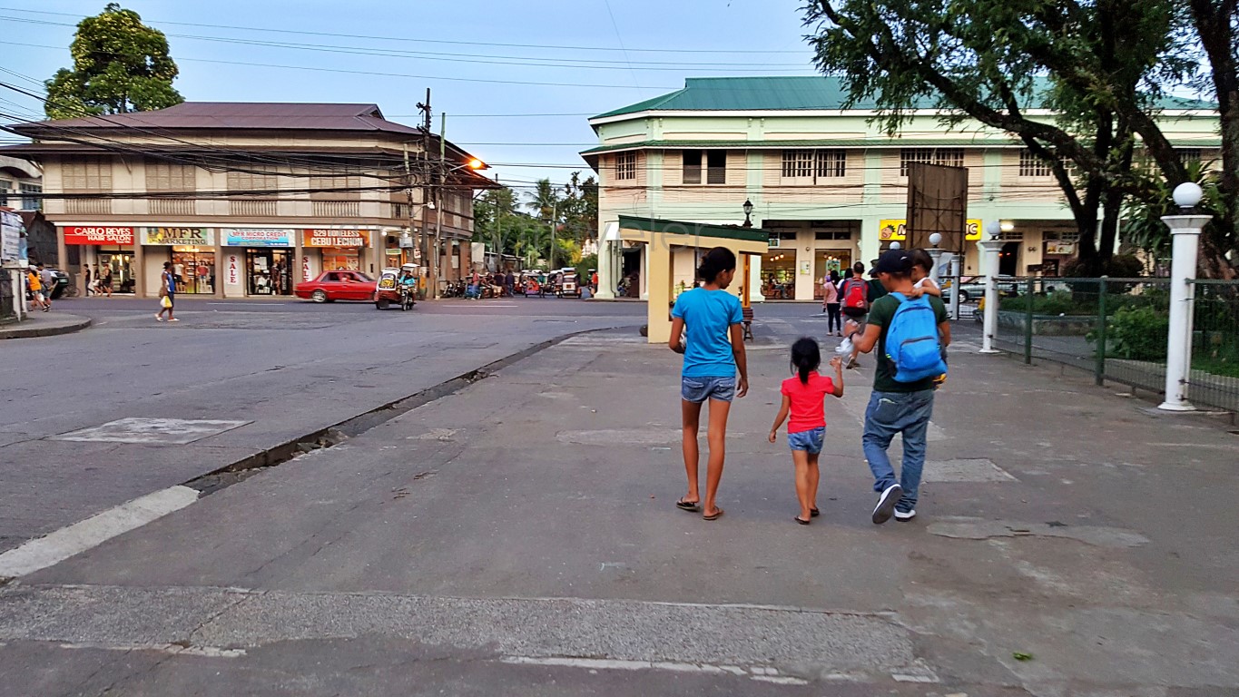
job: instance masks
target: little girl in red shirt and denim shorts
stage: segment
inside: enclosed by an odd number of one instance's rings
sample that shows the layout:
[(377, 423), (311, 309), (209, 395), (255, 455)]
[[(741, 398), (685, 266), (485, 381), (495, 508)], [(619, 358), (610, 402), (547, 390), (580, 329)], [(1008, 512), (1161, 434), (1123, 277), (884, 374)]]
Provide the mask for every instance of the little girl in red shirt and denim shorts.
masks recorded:
[(795, 521), (808, 525), (819, 514), (818, 457), (826, 438), (826, 395), (844, 396), (844, 361), (835, 357), (830, 366), (835, 369), (834, 379), (818, 374), (821, 365), (821, 347), (818, 342), (804, 337), (792, 344), (793, 378), (783, 380), (779, 390), (783, 392), (783, 405), (771, 426), (769, 442), (778, 441), (778, 428), (787, 422), (787, 444), (792, 448), (792, 463), (795, 465), (795, 498), (800, 501), (800, 514)]

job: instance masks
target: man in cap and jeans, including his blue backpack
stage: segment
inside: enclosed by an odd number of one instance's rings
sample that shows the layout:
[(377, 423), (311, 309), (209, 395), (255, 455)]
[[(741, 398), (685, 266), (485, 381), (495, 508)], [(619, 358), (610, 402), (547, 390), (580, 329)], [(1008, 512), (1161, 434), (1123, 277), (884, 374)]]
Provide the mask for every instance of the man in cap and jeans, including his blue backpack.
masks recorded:
[[(873, 302), (864, 333), (855, 322), (847, 336), (861, 353), (877, 349), (873, 392), (865, 410), (865, 459), (878, 493), (873, 522), (908, 521), (917, 515), (921, 472), (926, 462), (926, 437), (933, 415), (935, 380), (947, 373), (942, 350), (950, 344), (950, 323), (942, 298), (912, 292), (912, 254), (891, 250), (875, 267), (890, 295)], [(887, 448), (896, 433), (903, 436), (903, 464), (896, 480)]]

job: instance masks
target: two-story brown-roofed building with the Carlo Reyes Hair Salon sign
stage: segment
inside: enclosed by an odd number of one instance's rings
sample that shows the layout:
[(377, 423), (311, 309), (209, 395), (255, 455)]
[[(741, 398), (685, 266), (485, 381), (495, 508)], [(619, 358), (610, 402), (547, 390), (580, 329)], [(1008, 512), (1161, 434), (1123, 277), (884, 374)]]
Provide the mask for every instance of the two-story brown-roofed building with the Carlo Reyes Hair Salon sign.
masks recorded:
[(191, 102), (12, 130), (32, 142), (0, 154), (41, 163), (62, 266), (138, 295), (164, 262), (185, 293), (290, 295), (322, 270), (421, 262), (436, 230), (452, 280), (471, 265), (473, 191), (494, 186), (374, 104)]

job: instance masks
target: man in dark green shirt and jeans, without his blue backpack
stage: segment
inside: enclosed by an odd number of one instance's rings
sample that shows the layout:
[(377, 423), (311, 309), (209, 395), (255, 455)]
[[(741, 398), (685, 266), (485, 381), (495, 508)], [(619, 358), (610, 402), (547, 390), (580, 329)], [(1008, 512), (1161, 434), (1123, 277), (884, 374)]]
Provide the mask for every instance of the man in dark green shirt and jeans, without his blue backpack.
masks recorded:
[[(912, 254), (897, 249), (887, 251), (875, 265), (877, 277), (888, 293), (909, 293), (912, 291)], [(950, 343), (950, 323), (947, 321), (947, 307), (940, 298), (927, 296), (938, 323), (939, 340), (943, 347)], [(895, 379), (895, 363), (887, 357), (886, 336), (895, 312), (903, 302), (900, 297), (886, 295), (877, 298), (869, 311), (869, 323), (864, 333), (855, 322), (849, 322), (844, 329), (851, 337), (852, 345), (862, 353), (877, 349), (877, 371), (873, 374), (873, 392), (865, 410), (865, 459), (873, 473), (873, 490), (880, 494), (873, 508), (873, 522), (883, 524), (895, 515), (896, 520), (908, 521), (916, 517), (917, 493), (921, 488), (921, 470), (926, 463), (926, 436), (929, 431), (929, 417), (933, 415), (934, 378), (914, 383), (900, 383)], [(900, 479), (887, 448), (896, 433), (903, 435), (903, 467)]]

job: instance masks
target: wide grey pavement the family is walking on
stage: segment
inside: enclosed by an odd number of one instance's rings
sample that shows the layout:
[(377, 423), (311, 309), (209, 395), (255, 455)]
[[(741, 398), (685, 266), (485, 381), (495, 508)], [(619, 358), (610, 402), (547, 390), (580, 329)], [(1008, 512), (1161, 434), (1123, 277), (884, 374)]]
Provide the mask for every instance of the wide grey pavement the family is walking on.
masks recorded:
[[(766, 442), (784, 345), (750, 365), (719, 521), (674, 506), (675, 357), (589, 334), (0, 591), (0, 665), (135, 695), (1239, 688), (1234, 435), (960, 349), (921, 515), (875, 526), (866, 358), (802, 527)], [(87, 650), (142, 645), (173, 649)]]

